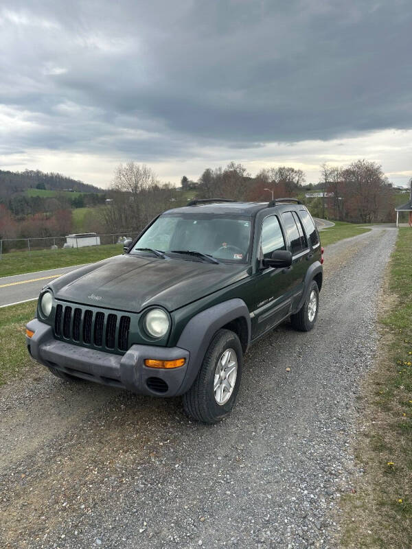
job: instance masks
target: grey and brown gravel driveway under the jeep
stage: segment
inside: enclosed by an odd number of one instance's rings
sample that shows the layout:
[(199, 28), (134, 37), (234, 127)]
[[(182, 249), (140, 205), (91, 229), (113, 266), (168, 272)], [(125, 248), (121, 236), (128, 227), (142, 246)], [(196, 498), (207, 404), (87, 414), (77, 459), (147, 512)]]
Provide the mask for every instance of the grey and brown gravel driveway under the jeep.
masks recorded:
[(327, 248), (317, 326), (285, 323), (251, 348), (219, 425), (191, 423), (179, 399), (65, 384), (40, 366), (1, 388), (0, 546), (336, 548), (395, 240), (374, 229)]

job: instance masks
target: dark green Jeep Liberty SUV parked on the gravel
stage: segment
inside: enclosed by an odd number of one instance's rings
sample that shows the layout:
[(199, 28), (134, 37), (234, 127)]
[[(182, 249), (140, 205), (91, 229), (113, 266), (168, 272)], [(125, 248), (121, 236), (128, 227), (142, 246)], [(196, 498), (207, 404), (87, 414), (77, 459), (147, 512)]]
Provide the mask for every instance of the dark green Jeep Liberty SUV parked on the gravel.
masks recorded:
[(249, 345), (317, 319), (323, 248), (298, 200), (193, 200), (125, 253), (47, 284), (27, 324), (33, 358), (62, 379), (183, 395), (215, 423), (236, 401)]

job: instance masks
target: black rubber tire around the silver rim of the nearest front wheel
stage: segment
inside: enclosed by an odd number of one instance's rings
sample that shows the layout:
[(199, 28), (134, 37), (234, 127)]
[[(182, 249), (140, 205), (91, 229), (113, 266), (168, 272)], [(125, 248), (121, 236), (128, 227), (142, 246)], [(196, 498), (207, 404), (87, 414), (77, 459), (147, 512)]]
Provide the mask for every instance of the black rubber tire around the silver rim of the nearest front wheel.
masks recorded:
[[(233, 392), (229, 399), (225, 404), (218, 404), (214, 392), (214, 377), (218, 362), (227, 349), (236, 353), (238, 370)], [(186, 414), (203, 423), (217, 423), (229, 415), (238, 395), (242, 377), (242, 362), (243, 352), (238, 336), (227, 329), (218, 330), (209, 344), (201, 369), (192, 387), (183, 395), (183, 408)]]

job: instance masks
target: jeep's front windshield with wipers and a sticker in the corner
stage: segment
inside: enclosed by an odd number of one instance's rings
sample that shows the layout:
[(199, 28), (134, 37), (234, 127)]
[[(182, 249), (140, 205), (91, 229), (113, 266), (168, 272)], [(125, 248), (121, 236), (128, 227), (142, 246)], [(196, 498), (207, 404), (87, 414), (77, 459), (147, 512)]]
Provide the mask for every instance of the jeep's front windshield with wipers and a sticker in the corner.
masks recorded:
[(152, 248), (166, 254), (190, 250), (222, 261), (246, 263), (250, 234), (251, 219), (247, 217), (199, 213), (161, 215), (130, 253), (139, 253), (138, 248)]

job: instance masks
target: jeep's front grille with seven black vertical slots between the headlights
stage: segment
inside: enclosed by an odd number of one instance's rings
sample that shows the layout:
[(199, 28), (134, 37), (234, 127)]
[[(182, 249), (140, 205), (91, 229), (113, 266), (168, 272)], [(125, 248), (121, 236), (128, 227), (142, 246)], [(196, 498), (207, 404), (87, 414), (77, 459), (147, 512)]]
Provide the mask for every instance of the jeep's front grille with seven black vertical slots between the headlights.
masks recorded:
[(127, 351), (130, 316), (106, 314), (71, 305), (56, 307), (54, 335), (58, 339), (106, 349)]

